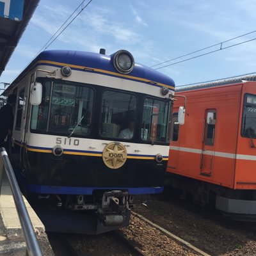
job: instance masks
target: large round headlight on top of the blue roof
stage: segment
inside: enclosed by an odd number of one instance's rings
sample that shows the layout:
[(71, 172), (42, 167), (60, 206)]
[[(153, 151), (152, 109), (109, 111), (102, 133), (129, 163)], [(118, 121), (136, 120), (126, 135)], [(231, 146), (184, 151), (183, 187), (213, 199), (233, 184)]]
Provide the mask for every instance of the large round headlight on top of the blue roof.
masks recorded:
[(132, 72), (134, 68), (134, 58), (132, 54), (125, 50), (120, 50), (115, 53), (114, 66), (116, 70), (122, 74)]

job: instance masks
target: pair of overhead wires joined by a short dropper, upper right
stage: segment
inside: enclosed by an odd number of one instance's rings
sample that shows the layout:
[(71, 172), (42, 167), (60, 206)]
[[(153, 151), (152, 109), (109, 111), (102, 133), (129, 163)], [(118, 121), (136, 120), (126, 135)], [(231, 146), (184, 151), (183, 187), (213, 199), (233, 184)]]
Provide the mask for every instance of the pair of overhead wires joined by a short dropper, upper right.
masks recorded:
[(184, 55), (182, 55), (182, 56), (173, 58), (173, 59), (171, 59), (171, 60), (163, 61), (163, 62), (161, 62), (161, 63), (158, 63), (158, 64), (156, 64), (156, 65), (153, 65), (153, 66), (151, 66), (151, 68), (156, 67), (156, 66), (159, 66), (159, 65), (163, 65), (164, 63), (168, 63), (168, 62), (170, 62), (170, 61), (177, 60), (177, 59), (179, 59), (179, 58), (183, 58), (183, 57), (189, 56), (189, 55), (191, 55), (191, 54), (195, 54), (196, 52), (200, 52), (200, 51), (204, 51), (204, 50), (206, 50), (206, 49), (210, 49), (211, 47), (214, 47), (214, 46), (217, 46), (217, 45), (220, 45), (220, 49), (217, 49), (217, 50), (214, 50), (214, 51), (211, 51), (211, 52), (207, 52), (207, 53), (205, 53), (205, 54), (200, 54), (200, 55), (198, 55), (198, 56), (194, 56), (194, 57), (188, 58), (188, 59), (186, 59), (186, 60), (177, 61), (177, 62), (175, 62), (175, 63), (171, 63), (171, 64), (169, 64), (169, 65), (164, 65), (164, 66), (162, 66), (162, 67), (154, 68), (154, 69), (157, 70), (157, 69), (160, 69), (160, 68), (168, 67), (168, 66), (171, 66), (171, 65), (175, 65), (175, 64), (177, 64), (177, 63), (180, 63), (180, 62), (192, 60), (192, 59), (195, 59), (195, 58), (198, 58), (198, 57), (207, 55), (207, 54), (211, 54), (212, 52), (221, 51), (222, 49), (227, 49), (227, 48), (230, 48), (230, 47), (234, 47), (234, 46), (236, 46), (236, 45), (239, 45), (239, 44), (244, 44), (244, 43), (246, 43), (246, 42), (253, 41), (253, 40), (255, 40), (256, 38), (253, 38), (252, 40), (247, 40), (247, 41), (244, 41), (244, 42), (241, 42), (241, 43), (238, 43), (238, 44), (234, 44), (234, 45), (229, 45), (229, 46), (227, 46), (227, 47), (223, 47), (223, 44), (225, 44), (225, 43), (227, 43), (227, 42), (230, 42), (230, 41), (235, 40), (235, 39), (237, 39), (237, 38), (241, 38), (241, 37), (246, 36), (246, 35), (250, 35), (250, 34), (255, 33), (255, 32), (256, 32), (256, 30), (255, 30), (255, 31), (251, 31), (251, 32), (249, 32), (249, 33), (245, 33), (245, 34), (240, 35), (240, 36), (236, 36), (236, 37), (234, 37), (234, 38), (230, 38), (230, 39), (225, 40), (225, 41), (223, 41), (223, 42), (220, 42), (220, 43), (218, 43), (218, 44), (214, 44), (214, 45), (210, 45), (210, 46), (208, 46), (208, 47), (204, 47), (204, 48), (199, 49), (199, 50), (197, 50), (197, 51), (189, 52), (188, 54), (184, 54)]

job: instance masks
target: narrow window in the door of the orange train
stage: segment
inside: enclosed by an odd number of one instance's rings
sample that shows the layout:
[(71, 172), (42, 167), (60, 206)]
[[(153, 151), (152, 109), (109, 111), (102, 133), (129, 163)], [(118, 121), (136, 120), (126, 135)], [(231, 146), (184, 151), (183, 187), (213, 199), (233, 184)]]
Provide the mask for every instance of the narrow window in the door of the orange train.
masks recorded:
[(216, 125), (216, 110), (206, 111), (206, 122), (205, 122), (205, 145), (214, 144)]

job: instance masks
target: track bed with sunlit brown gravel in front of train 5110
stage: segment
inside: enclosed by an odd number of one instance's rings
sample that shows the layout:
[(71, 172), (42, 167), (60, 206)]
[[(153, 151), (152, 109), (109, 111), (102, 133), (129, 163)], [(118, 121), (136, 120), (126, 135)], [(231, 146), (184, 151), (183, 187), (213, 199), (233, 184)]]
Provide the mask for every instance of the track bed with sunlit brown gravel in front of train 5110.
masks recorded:
[(88, 236), (49, 233), (48, 237), (56, 256), (210, 256), (136, 212), (132, 212), (128, 228), (107, 234)]

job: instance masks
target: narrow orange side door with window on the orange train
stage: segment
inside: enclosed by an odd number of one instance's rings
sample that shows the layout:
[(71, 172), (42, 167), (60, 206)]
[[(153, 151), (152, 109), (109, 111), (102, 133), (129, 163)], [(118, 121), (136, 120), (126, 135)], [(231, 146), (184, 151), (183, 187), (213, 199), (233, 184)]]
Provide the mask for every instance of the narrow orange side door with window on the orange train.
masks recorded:
[(207, 109), (204, 118), (200, 174), (211, 176), (214, 160), (214, 141), (216, 134), (216, 109)]

